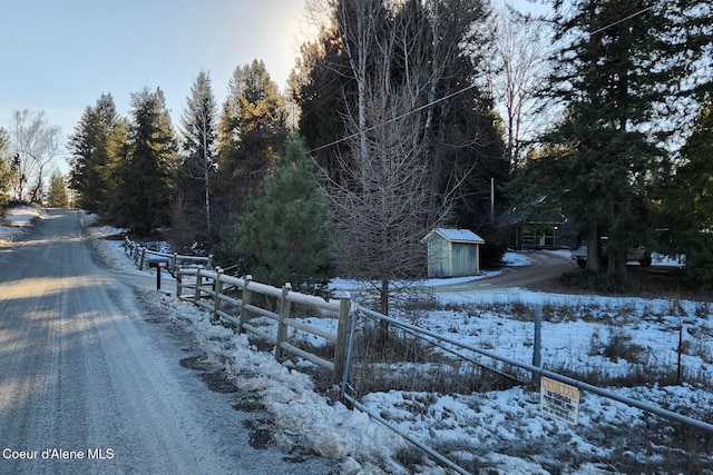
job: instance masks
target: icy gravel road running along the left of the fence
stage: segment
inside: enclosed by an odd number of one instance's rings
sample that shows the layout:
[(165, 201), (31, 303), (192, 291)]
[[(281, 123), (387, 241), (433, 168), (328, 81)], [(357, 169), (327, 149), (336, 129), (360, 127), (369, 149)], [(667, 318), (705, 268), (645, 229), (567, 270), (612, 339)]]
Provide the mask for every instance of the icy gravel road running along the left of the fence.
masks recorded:
[[(72, 211), (0, 247), (0, 473), (329, 473), (247, 441), (229, 396), (94, 258)], [(185, 342), (184, 342), (185, 343)]]

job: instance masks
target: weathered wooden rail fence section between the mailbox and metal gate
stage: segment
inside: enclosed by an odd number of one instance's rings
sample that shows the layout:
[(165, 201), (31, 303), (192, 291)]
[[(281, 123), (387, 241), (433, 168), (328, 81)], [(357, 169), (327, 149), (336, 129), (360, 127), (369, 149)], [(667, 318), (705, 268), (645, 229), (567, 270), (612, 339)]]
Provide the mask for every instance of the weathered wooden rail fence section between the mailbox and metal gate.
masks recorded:
[[(225, 275), (219, 268), (215, 270), (203, 267), (179, 268), (175, 277), (177, 280), (176, 296), (211, 311), (214, 321), (231, 323), (238, 331), (250, 331), (266, 339), (274, 345), (275, 359), (277, 360), (283, 360), (286, 353), (291, 353), (332, 372), (335, 384), (342, 382), (346, 364), (349, 319), (352, 308), (352, 301), (348, 294), (339, 299), (325, 300), (321, 297), (293, 291), (290, 284), (277, 288), (256, 283), (252, 280), (251, 276), (243, 278)], [(256, 298), (256, 296), (268, 298)], [(270, 305), (271, 303), (273, 305)], [(294, 318), (293, 305), (318, 310), (321, 318), (336, 319), (336, 333)], [(258, 327), (258, 318), (272, 321), (273, 325), (267, 326), (272, 330)], [(333, 343), (332, 360), (299, 348), (297, 343), (290, 338), (290, 328), (316, 335)]]

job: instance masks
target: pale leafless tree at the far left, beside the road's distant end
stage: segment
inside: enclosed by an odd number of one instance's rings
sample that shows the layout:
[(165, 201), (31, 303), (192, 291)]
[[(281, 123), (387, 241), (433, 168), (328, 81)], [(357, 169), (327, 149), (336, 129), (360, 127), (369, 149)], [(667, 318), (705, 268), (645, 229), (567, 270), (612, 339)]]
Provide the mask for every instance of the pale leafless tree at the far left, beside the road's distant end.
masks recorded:
[(17, 154), (13, 164), (14, 196), (22, 200), (39, 201), (42, 198), (42, 180), (46, 167), (59, 149), (60, 128), (50, 126), (45, 111), (16, 110), (11, 119), (12, 145)]

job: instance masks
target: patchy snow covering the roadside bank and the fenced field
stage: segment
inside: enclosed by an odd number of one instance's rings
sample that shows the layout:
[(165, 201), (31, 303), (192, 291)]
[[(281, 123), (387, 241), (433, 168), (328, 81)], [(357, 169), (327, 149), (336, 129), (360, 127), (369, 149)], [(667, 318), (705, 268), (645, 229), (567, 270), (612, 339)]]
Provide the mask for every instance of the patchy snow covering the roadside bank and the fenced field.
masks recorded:
[[(275, 443), (283, 449), (306, 448), (336, 458), (342, 462), (343, 474), (450, 473), (418, 456), (407, 456), (413, 454), (410, 443), (364, 413), (318, 393), (312, 378), (299, 370), (306, 364), (281, 365), (272, 354), (257, 350), (244, 335), (213, 326), (209, 315), (153, 290), (148, 278), (152, 273), (138, 271), (124, 255), (120, 241), (101, 239), (118, 230), (90, 227), (89, 217), (85, 224), (106, 263), (147, 277), (140, 294), (152, 310), (170, 315), (178, 325), (191, 329), (209, 358), (225, 365), (240, 392), (253, 395), (267, 408), (274, 417)], [(3, 232), (0, 228), (0, 239)], [(509, 253), (506, 258), (511, 266), (529, 265), (520, 254)], [(429, 289), (423, 309), (397, 308), (393, 316), (531, 363), (531, 309), (541, 306), (544, 366), (556, 372), (597, 374), (603, 379), (645, 377), (643, 373), (647, 372), (662, 379), (667, 375), (675, 379), (681, 347), (684, 383), (612, 390), (713, 424), (710, 303), (573, 296), (519, 288), (445, 294), (432, 290), (439, 284), (421, 284)], [(355, 287), (346, 281), (335, 285)], [(332, 320), (318, 316), (310, 321), (333, 328)], [(621, 352), (608, 352), (615, 344)], [(526, 387), (465, 395), (383, 390), (365, 395), (362, 403), (411, 437), (457, 456), (471, 473), (713, 474), (710, 434), (594, 394), (582, 394), (576, 426), (543, 414), (539, 393)]]

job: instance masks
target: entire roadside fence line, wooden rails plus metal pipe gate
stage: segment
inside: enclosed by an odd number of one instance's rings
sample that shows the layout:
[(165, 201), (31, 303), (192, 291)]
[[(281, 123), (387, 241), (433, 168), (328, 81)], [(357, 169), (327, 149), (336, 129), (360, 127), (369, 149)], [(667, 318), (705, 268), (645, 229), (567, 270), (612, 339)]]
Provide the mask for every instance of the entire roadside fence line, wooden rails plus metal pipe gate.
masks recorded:
[[(207, 260), (207, 258), (188, 258), (184, 261), (189, 261), (192, 267), (180, 267), (178, 263), (182, 261), (182, 258), (186, 258), (186, 256), (172, 256), (150, 251), (135, 245), (129, 246), (128, 243), (130, 241), (127, 239), (127, 254), (131, 256), (133, 260), (137, 266), (139, 266), (139, 268), (141, 268), (146, 263), (146, 254), (173, 258), (173, 260), (170, 260), (169, 269), (177, 280), (176, 296), (178, 298), (185, 301), (192, 301), (196, 306), (212, 313), (214, 321), (227, 321), (234, 325), (238, 331), (250, 331), (271, 342), (274, 344), (275, 358), (279, 360), (284, 359), (286, 353), (291, 353), (332, 372), (333, 382), (335, 384), (341, 383), (341, 395), (345, 400), (351, 402), (355, 407), (369, 414), (373, 419), (399, 433), (406, 439), (412, 442), (419, 448), (427, 452), (434, 459), (460, 474), (468, 474), (468, 471), (446, 458), (436, 449), (419, 443), (409, 434), (401, 433), (395, 425), (382, 418), (379, 414), (370, 412), (369, 408), (361, 404), (358, 398), (348, 393), (350, 386), (350, 370), (352, 369), (352, 355), (354, 354), (355, 328), (360, 320), (362, 323), (365, 319), (383, 321), (393, 328), (399, 328), (408, 331), (409, 334), (417, 335), (419, 338), (430, 342), (431, 344), (436, 344), (438, 346), (448, 345), (449, 353), (466, 360), (473, 362), (470, 356), (472, 354), (485, 356), (505, 365), (520, 368), (531, 374), (533, 377), (545, 376), (550, 379), (575, 386), (582, 390), (590, 392), (612, 400), (617, 400), (644, 412), (655, 414), (660, 417), (675, 420), (707, 433), (713, 433), (713, 424), (694, 419), (646, 402), (632, 399), (614, 392), (543, 369), (539, 363), (535, 359), (533, 364), (521, 363), (482, 348), (463, 344), (457, 339), (426, 330), (414, 325), (407, 324), (402, 320), (390, 318), (377, 311), (360, 308), (356, 305), (352, 305), (351, 297), (348, 294), (341, 296), (339, 299), (325, 300), (316, 296), (293, 291), (290, 284), (285, 284), (282, 288), (277, 288), (256, 283), (252, 280), (251, 276), (246, 276), (244, 278), (233, 277), (225, 275), (221, 268), (212, 270), (201, 265), (196, 267), (197, 263), (208, 264), (209, 260)], [(159, 271), (159, 269), (157, 269), (157, 271)], [(263, 296), (265, 298), (257, 299), (255, 298), (256, 296)], [(273, 306), (265, 304), (267, 299), (272, 299)], [(262, 300), (263, 304), (261, 305), (261, 301), (258, 300)], [(336, 333), (326, 331), (322, 328), (311, 326), (302, 320), (293, 318), (293, 304), (306, 306), (312, 309), (319, 309), (330, 315), (331, 318), (335, 318), (338, 321)], [(258, 328), (260, 321), (257, 320), (260, 318), (267, 319), (274, 324), (272, 333)], [(333, 343), (334, 353), (332, 360), (326, 360), (290, 343), (287, 338), (289, 328), (316, 335)], [(497, 372), (497, 368), (488, 369)], [(512, 377), (511, 375), (506, 376)]]

